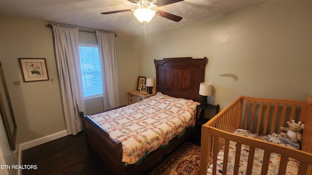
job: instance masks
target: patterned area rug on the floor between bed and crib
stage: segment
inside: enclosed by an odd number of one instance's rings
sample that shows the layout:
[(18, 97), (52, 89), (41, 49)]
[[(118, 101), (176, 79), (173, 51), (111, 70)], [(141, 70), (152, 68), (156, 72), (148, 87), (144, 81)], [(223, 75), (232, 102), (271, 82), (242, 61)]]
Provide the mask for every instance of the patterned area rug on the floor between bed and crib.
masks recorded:
[(198, 175), (199, 166), (200, 147), (186, 142), (150, 175)]

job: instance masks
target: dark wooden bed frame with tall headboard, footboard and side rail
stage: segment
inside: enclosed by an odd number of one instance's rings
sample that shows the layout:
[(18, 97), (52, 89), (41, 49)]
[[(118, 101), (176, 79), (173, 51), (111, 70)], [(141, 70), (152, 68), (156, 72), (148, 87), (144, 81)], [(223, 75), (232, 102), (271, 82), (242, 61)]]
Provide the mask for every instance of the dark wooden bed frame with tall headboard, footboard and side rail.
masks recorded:
[[(154, 62), (156, 66), (156, 91), (172, 97), (200, 101), (198, 90), (200, 82), (204, 81), (206, 57), (201, 59), (193, 59), (192, 57), (165, 58), (154, 60)], [(171, 140), (168, 147), (158, 148), (138, 165), (125, 167), (124, 162), (122, 162), (122, 143), (113, 140), (107, 131), (84, 115), (83, 112), (79, 112), (79, 116), (83, 121), (88, 145), (102, 157), (105, 164), (116, 175), (139, 175), (143, 173), (193, 133), (193, 129), (189, 128), (182, 138)]]

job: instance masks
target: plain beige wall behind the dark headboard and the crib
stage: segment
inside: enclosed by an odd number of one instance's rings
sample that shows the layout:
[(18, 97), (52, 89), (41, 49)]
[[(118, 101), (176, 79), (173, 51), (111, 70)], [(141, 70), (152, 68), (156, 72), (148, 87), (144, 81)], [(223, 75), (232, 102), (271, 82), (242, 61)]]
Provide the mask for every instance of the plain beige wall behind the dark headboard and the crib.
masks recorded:
[(154, 59), (206, 56), (212, 104), (239, 95), (304, 101), (312, 95), (311, 31), (312, 1), (272, 0), (148, 35), (148, 53), (140, 37), (138, 70), (155, 78)]

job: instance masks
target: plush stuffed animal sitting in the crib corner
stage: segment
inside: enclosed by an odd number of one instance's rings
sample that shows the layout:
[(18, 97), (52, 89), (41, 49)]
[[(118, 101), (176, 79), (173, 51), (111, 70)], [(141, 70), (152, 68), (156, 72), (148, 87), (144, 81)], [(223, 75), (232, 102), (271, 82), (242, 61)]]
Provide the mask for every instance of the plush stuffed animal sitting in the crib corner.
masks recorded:
[(298, 143), (301, 142), (302, 140), (302, 134), (301, 131), (304, 127), (304, 124), (301, 122), (295, 123), (294, 120), (292, 120), (291, 122), (287, 122), (289, 125), (288, 127), (280, 127), (280, 129), (284, 132), (281, 132), (280, 135), (283, 137), (288, 138), (289, 140), (291, 140), (294, 143)]

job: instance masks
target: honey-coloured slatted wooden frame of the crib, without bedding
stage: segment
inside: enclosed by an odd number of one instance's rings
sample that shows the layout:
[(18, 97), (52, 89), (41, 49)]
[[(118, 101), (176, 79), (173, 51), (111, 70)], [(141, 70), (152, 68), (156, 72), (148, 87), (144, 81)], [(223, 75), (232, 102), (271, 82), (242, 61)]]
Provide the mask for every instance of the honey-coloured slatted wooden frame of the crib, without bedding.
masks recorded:
[[(291, 120), (304, 123), (301, 150), (233, 134), (238, 128), (261, 135), (274, 132), (278, 134), (281, 132), (280, 126), (288, 127), (286, 122)], [(249, 146), (246, 175), (252, 174), (254, 150), (257, 148), (264, 150), (261, 172), (259, 172), (261, 175), (268, 173), (271, 153), (281, 155), (278, 175), (285, 174), (289, 157), (300, 161), (298, 175), (312, 175), (312, 97), (308, 96), (307, 102), (238, 97), (202, 126), (200, 175), (206, 175), (209, 167), (213, 175), (218, 172), (216, 169), (217, 154), (223, 148), (223, 158), (228, 160), (230, 141), (236, 142), (237, 153), (240, 153), (242, 145)], [(240, 154), (235, 154), (233, 159), (233, 174), (237, 175)], [(228, 167), (228, 161), (223, 161), (223, 167)], [(220, 174), (220, 171), (218, 173)], [(223, 169), (222, 173), (225, 175), (227, 170)]]

